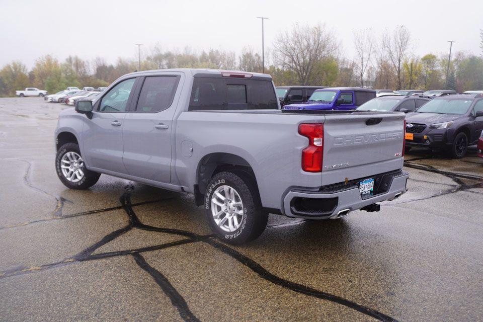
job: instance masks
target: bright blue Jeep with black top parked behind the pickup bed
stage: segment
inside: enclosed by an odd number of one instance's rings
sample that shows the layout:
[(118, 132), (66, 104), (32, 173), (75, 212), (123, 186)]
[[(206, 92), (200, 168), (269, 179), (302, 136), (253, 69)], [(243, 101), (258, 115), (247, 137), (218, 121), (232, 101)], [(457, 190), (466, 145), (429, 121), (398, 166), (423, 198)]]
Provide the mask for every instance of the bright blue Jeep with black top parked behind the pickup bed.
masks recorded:
[(376, 91), (353, 88), (332, 87), (315, 90), (306, 104), (285, 105), (285, 110), (353, 110), (376, 97)]

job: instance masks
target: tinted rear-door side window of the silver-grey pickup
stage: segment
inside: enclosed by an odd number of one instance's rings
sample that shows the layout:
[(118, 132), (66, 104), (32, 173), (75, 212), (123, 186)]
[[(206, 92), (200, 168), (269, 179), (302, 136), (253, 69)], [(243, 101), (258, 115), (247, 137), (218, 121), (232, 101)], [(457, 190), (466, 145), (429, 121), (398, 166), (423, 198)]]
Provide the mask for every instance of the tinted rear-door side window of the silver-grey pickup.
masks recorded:
[(179, 76), (149, 76), (144, 79), (136, 112), (159, 112), (173, 103)]

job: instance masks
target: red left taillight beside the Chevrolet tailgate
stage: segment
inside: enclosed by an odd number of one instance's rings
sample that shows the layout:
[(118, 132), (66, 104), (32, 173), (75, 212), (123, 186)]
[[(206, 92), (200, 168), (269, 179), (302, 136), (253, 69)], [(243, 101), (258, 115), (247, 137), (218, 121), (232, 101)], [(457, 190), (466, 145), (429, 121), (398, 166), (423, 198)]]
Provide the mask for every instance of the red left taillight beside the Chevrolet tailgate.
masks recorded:
[(308, 138), (308, 146), (302, 150), (302, 170), (306, 172), (322, 172), (324, 124), (300, 124), (298, 133)]

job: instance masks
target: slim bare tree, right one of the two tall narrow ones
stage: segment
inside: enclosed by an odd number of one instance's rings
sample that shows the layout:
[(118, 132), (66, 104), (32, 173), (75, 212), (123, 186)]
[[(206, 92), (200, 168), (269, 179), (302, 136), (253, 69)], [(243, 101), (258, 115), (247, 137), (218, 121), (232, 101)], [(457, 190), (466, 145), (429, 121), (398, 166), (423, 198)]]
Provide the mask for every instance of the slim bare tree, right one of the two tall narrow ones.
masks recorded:
[(387, 54), (397, 77), (398, 90), (402, 85), (403, 61), (408, 54), (410, 38), (409, 30), (403, 25), (396, 27), (392, 37), (384, 38)]

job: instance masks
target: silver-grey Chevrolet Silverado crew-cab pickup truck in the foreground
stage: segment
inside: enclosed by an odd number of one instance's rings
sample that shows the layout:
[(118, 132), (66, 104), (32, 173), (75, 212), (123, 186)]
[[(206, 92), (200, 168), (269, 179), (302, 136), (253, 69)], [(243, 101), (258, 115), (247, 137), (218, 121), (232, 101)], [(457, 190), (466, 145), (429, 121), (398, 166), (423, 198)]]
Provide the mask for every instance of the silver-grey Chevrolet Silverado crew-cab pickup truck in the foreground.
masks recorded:
[(71, 189), (108, 174), (192, 193), (213, 232), (241, 244), (268, 213), (335, 219), (405, 193), (404, 117), (282, 111), (267, 74), (136, 72), (60, 114), (56, 171)]

